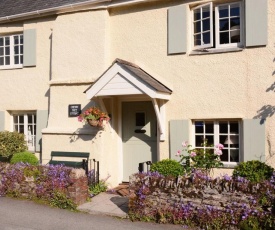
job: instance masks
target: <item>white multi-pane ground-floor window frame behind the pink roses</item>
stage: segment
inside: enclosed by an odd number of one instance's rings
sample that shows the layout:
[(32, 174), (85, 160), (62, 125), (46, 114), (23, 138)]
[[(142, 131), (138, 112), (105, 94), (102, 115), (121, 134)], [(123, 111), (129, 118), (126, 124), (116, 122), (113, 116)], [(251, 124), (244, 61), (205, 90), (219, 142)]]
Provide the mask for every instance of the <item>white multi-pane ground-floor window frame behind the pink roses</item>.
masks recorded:
[[(199, 122), (199, 121), (202, 121), (202, 122), (213, 122), (214, 124), (214, 146), (219, 144), (219, 137), (220, 137), (220, 132), (219, 132), (219, 123), (220, 122), (237, 122), (238, 123), (238, 131), (239, 133), (236, 134), (236, 136), (238, 137), (237, 140), (239, 142), (239, 148), (232, 148), (230, 147), (230, 145), (228, 147), (226, 147), (225, 149), (228, 149), (228, 161), (222, 161), (222, 163), (225, 165), (225, 166), (236, 166), (238, 163), (241, 162), (241, 134), (242, 134), (242, 130), (241, 130), (241, 121), (240, 120), (235, 120), (235, 119), (229, 119), (229, 120), (207, 120), (207, 119), (199, 119), (199, 120), (193, 120), (192, 121), (192, 146), (195, 148), (196, 145), (195, 145), (195, 136), (196, 136), (196, 131), (195, 131), (195, 122)], [(229, 129), (228, 129), (229, 130)], [(207, 135), (207, 133), (203, 133), (203, 135)], [(221, 134), (221, 135), (225, 135), (225, 134)], [(234, 136), (234, 134), (230, 134), (230, 136)], [(220, 144), (223, 144), (224, 143), (220, 143)], [(201, 149), (206, 149), (204, 147), (202, 147)], [(213, 148), (210, 148), (208, 147), (208, 149), (214, 149)], [(234, 162), (234, 161), (230, 161), (230, 150), (239, 150), (239, 161), (238, 162)]]

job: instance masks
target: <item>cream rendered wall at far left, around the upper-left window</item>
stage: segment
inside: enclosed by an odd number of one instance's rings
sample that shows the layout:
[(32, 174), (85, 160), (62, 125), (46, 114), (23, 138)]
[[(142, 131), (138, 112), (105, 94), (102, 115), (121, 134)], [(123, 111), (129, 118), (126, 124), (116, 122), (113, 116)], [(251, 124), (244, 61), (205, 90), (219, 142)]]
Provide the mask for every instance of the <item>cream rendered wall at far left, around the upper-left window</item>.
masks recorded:
[[(22, 69), (0, 70), (0, 110), (47, 110), (50, 78), (50, 36), (54, 18), (44, 18), (1, 25), (0, 34), (23, 33), (36, 29), (36, 66)], [(6, 112), (5, 128), (11, 130)]]

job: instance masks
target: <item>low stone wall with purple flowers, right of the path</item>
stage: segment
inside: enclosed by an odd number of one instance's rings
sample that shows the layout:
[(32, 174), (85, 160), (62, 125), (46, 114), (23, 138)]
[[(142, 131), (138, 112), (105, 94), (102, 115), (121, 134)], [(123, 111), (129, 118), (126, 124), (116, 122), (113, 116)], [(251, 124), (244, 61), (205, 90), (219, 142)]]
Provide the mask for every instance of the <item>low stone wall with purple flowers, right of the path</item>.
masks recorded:
[(132, 220), (203, 229), (275, 229), (274, 211), (275, 174), (260, 183), (227, 175), (212, 179), (200, 171), (178, 178), (140, 173), (130, 179)]

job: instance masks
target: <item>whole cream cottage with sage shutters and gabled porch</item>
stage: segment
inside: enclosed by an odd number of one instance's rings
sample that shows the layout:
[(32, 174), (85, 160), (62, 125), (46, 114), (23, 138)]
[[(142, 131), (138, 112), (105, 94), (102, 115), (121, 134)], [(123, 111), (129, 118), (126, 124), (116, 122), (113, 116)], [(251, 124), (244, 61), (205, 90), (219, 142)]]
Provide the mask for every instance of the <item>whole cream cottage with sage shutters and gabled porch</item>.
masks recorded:
[[(182, 141), (275, 167), (275, 1), (0, 2), (0, 131), (42, 163), (90, 152), (117, 185)], [(104, 129), (78, 121), (100, 107)], [(77, 112), (75, 111), (77, 109)]]

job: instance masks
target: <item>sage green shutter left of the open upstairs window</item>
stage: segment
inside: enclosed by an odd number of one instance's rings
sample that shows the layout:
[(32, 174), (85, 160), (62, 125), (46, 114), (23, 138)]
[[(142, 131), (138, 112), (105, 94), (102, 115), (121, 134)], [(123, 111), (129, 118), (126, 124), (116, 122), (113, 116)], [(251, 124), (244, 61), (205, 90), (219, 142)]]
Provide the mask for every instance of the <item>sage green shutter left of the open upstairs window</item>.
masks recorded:
[(168, 9), (168, 54), (187, 51), (187, 7), (174, 6)]

